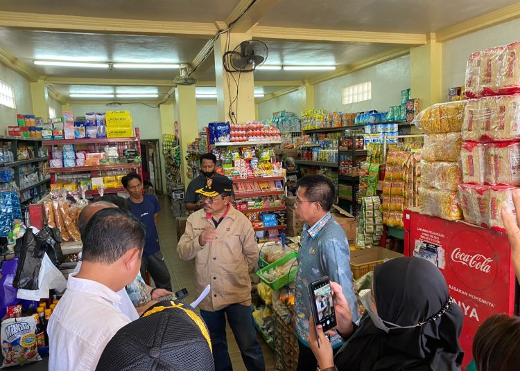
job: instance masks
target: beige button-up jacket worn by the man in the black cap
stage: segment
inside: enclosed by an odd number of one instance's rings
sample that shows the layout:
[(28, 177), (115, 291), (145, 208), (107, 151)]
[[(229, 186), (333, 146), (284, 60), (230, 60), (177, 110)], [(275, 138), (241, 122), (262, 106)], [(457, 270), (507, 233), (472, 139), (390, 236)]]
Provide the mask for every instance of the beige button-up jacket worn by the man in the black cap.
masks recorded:
[(208, 226), (215, 228), (203, 209), (193, 212), (177, 244), (182, 260), (195, 258), (197, 295), (211, 284), (211, 292), (200, 303), (200, 309), (218, 311), (231, 304), (251, 305), (249, 272), (259, 260), (251, 221), (230, 206), (216, 228), (218, 238), (200, 246), (198, 236)]

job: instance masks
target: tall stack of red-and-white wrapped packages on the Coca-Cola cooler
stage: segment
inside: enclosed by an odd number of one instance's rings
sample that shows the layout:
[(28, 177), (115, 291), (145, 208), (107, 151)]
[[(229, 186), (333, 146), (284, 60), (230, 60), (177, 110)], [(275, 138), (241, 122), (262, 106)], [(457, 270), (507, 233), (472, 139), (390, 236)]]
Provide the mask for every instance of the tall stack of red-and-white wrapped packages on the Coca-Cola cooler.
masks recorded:
[(520, 42), (473, 53), (466, 70), (471, 99), (462, 125), (462, 179), (458, 198), (464, 219), (504, 230), (503, 201), (514, 210), (520, 186)]

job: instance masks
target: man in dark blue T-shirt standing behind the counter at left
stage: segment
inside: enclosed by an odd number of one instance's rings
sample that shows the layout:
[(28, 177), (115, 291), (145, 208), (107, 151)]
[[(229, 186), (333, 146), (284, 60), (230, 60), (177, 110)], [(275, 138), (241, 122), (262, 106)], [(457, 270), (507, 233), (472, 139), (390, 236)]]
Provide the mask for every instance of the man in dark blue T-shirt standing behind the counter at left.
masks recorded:
[(128, 203), (130, 211), (144, 224), (146, 230), (146, 243), (144, 245), (143, 259), (141, 262), (141, 276), (146, 276), (146, 271), (155, 282), (157, 289), (173, 291), (168, 267), (159, 246), (159, 235), (157, 234), (157, 222), (159, 221), (159, 201), (155, 194), (143, 194), (143, 183), (141, 177), (135, 173), (125, 175), (121, 179), (123, 187), (130, 194)]

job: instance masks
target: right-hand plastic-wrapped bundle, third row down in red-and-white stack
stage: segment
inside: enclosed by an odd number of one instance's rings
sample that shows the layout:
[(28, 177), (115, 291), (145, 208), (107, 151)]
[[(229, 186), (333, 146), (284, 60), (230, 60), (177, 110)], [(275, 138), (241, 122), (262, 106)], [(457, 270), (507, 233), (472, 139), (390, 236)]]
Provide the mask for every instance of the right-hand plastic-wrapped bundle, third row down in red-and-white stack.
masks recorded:
[(484, 164), (486, 183), (520, 185), (520, 143), (487, 143)]

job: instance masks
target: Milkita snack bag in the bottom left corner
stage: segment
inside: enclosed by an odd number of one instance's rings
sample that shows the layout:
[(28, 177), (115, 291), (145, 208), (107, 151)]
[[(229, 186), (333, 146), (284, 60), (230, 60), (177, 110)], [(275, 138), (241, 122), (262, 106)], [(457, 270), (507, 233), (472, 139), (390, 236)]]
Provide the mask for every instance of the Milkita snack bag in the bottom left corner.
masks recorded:
[(1, 368), (42, 361), (37, 351), (34, 317), (9, 318), (1, 325)]

